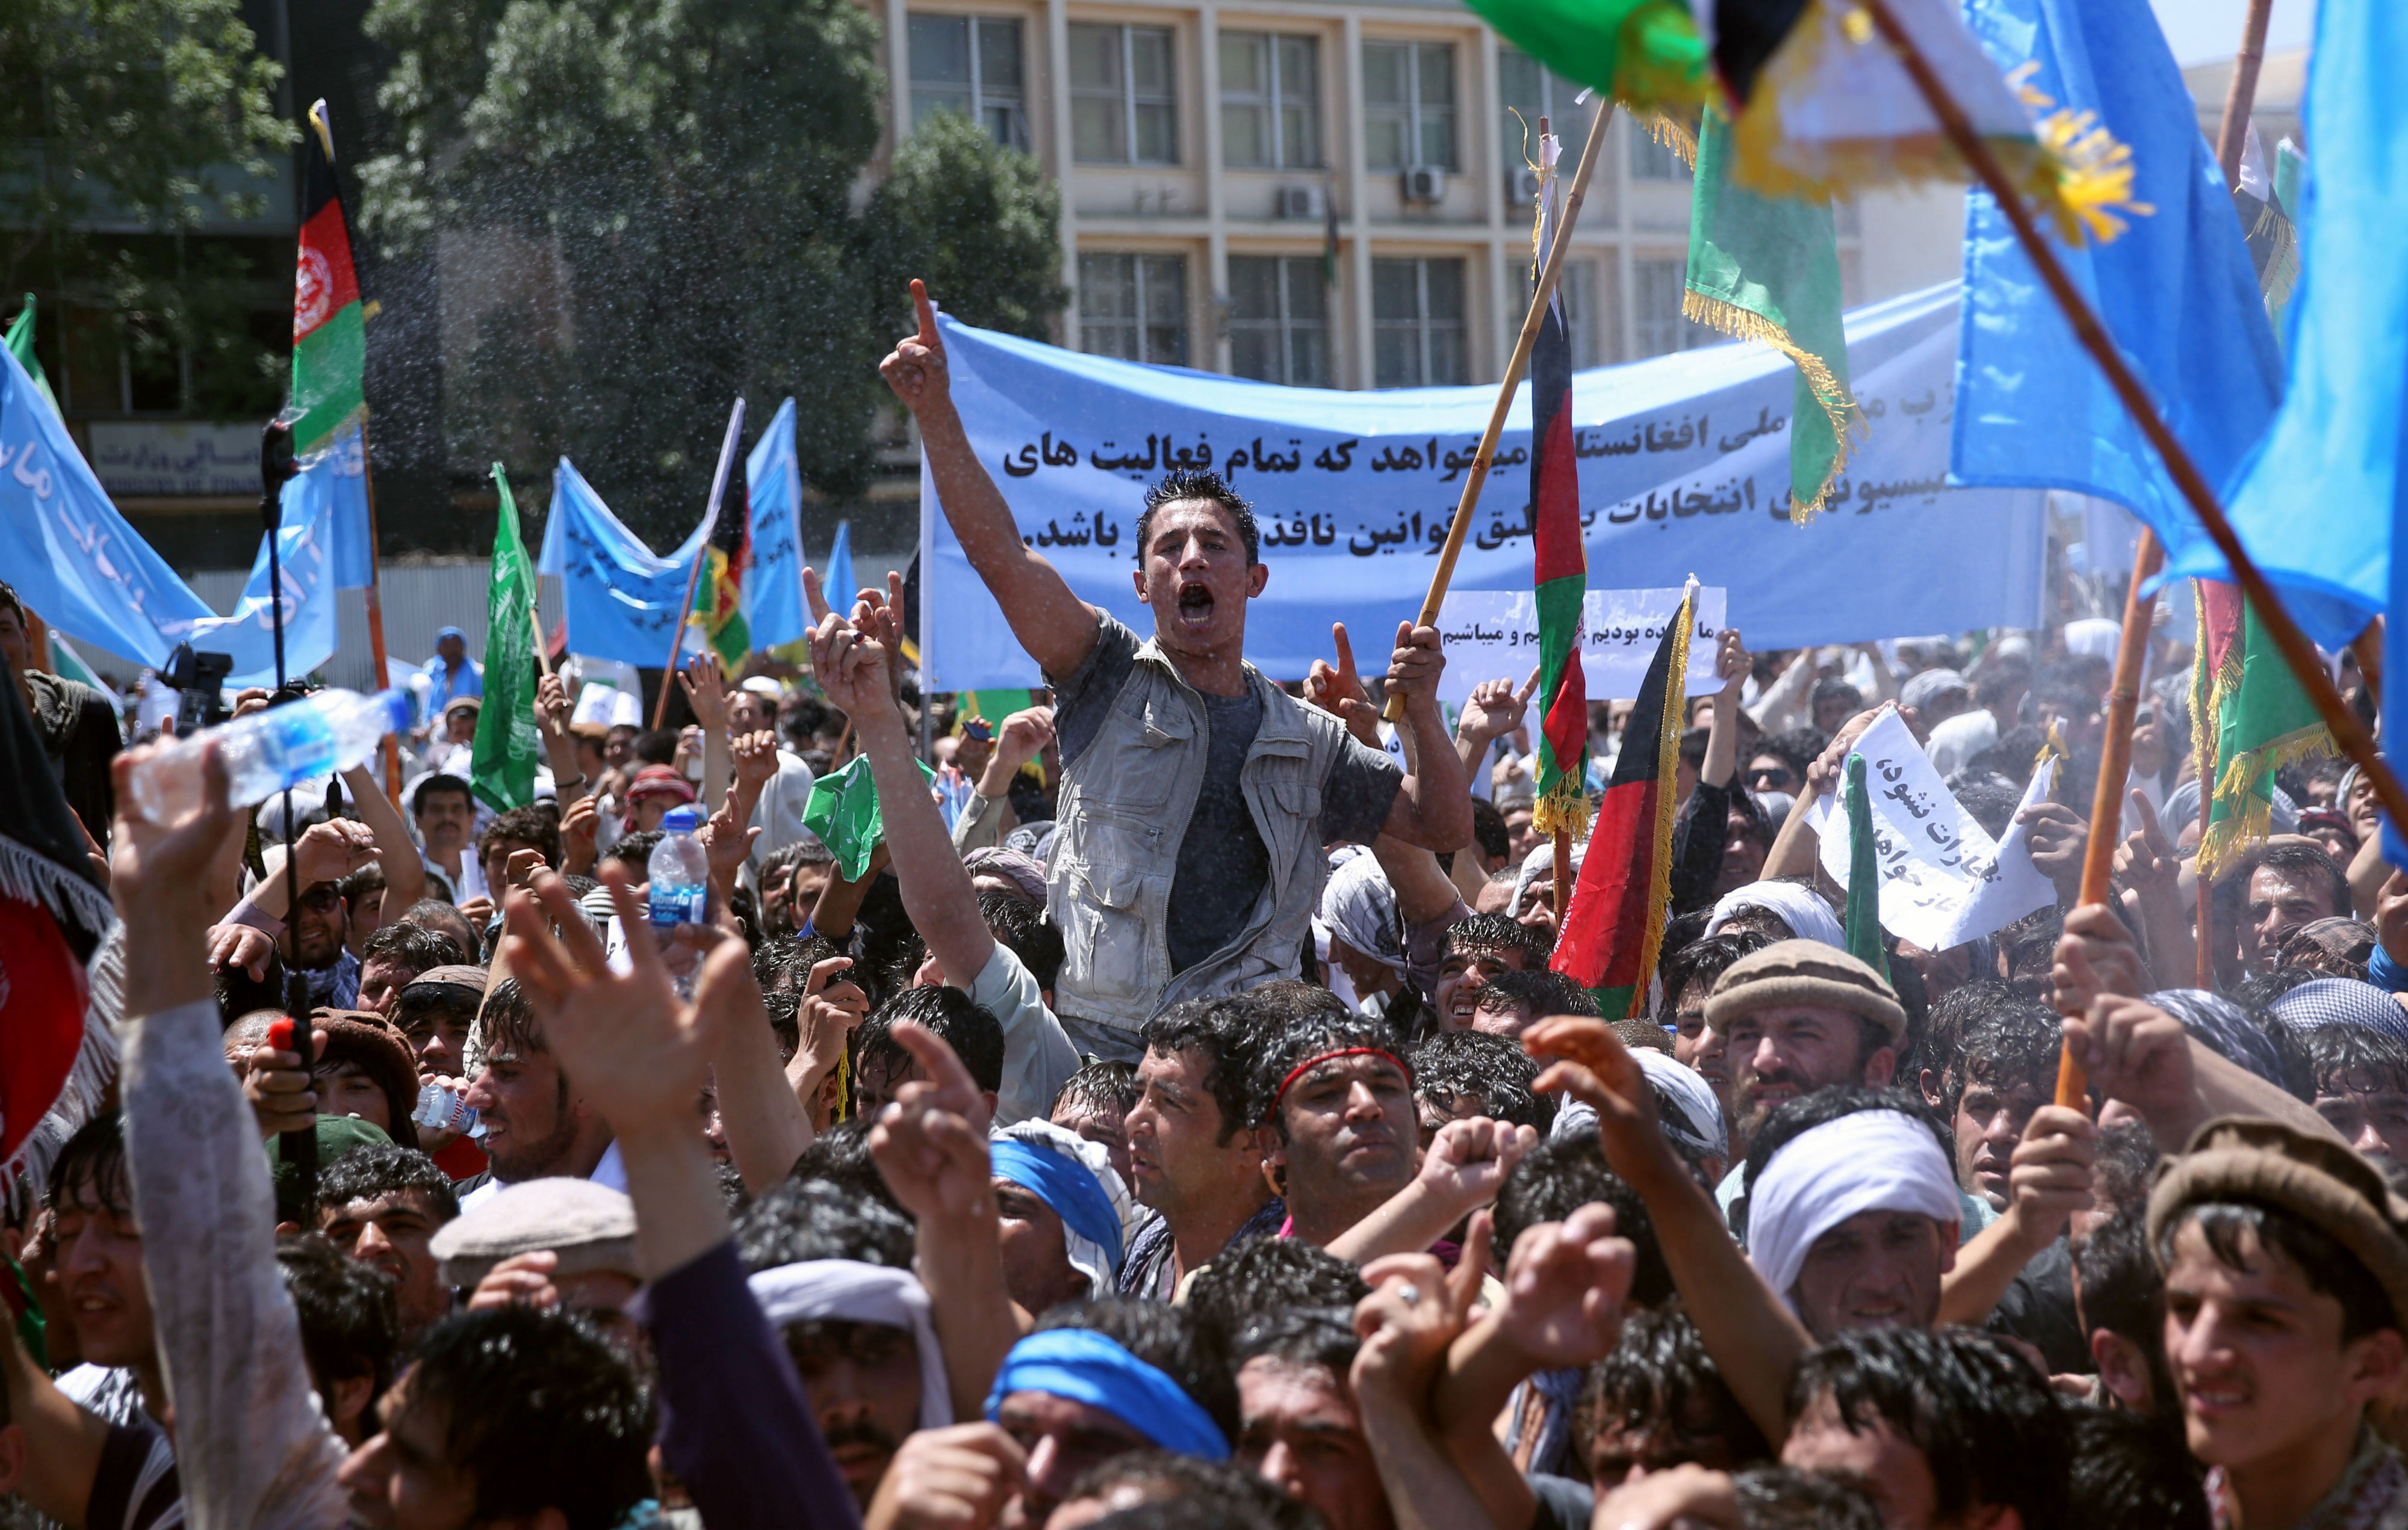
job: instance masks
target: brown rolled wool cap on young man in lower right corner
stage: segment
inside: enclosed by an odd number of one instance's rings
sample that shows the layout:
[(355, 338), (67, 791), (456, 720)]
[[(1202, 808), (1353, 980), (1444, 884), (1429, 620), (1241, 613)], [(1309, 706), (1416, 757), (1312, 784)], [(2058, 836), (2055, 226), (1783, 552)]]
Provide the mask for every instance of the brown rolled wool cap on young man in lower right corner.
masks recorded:
[(2182, 1157), (2158, 1167), (2148, 1191), (2148, 1246), (2155, 1251), (2182, 1208), (2244, 1200), (2285, 1210), (2331, 1234), (2391, 1297), (2408, 1330), (2408, 1200), (2384, 1176), (2326, 1135), (2259, 1116), (2218, 1116), (2191, 1133)]

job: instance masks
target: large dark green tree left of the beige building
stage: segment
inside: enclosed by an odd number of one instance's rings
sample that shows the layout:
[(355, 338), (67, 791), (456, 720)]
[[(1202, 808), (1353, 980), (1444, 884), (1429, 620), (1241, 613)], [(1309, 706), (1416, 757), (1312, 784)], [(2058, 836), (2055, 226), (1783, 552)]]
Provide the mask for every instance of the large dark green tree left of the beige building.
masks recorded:
[(737, 392), (763, 416), (795, 395), (804, 479), (864, 488), (910, 274), (891, 262), (968, 245), (898, 219), (985, 209), (1007, 226), (982, 313), (1026, 332), (1060, 308), (1026, 156), (937, 147), (929, 173), (990, 185), (857, 204), (886, 84), (850, 0), (378, 0), (368, 34), (397, 55), (378, 101), (400, 149), (361, 166), (364, 231), (388, 253), (470, 233), (525, 293), (445, 385), (455, 457), (568, 452), (655, 541), (701, 510)]

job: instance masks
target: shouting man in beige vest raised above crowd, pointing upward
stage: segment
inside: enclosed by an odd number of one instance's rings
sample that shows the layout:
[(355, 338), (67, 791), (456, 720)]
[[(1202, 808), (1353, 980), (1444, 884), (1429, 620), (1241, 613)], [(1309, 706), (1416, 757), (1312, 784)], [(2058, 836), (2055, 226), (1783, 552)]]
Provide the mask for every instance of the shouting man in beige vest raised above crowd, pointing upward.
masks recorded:
[(970, 568), (1055, 688), (1060, 835), (1047, 912), (1067, 960), (1055, 1010), (1081, 1051), (1134, 1061), (1137, 1030), (1182, 998), (1293, 977), (1312, 938), (1327, 844), (1394, 835), (1447, 852), (1471, 799), (1438, 714), (1438, 628), (1397, 625), (1387, 683), (1406, 698), (1418, 775), (1245, 662), (1245, 601), (1271, 570), (1255, 515), (1216, 474), (1175, 472), (1137, 517), (1139, 638), (1072, 594), (1021, 541), (954, 411), (944, 339), (879, 366), (920, 421), (937, 498)]

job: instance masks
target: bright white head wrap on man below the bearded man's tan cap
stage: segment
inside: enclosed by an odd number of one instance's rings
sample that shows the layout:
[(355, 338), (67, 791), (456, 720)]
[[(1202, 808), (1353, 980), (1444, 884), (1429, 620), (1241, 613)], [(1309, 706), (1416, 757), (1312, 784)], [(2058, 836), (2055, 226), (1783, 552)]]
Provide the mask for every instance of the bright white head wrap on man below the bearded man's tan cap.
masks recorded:
[(1816, 1239), (1869, 1210), (1948, 1227), (1965, 1215), (1938, 1138), (1914, 1116), (1857, 1111), (1784, 1143), (1748, 1186), (1748, 1263), (1789, 1301)]

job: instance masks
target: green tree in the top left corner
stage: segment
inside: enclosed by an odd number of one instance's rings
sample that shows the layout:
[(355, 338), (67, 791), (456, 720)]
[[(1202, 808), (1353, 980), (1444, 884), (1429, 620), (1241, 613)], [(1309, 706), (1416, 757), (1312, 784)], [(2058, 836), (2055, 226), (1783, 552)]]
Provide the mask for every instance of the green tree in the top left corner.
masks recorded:
[(289, 257), (253, 269), (181, 233), (265, 204), (296, 142), (282, 75), (241, 0), (0, 0), (0, 308), (26, 286), (108, 308), (137, 373), (190, 358), (188, 404), (275, 409), (277, 356), (246, 325)]

